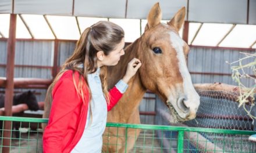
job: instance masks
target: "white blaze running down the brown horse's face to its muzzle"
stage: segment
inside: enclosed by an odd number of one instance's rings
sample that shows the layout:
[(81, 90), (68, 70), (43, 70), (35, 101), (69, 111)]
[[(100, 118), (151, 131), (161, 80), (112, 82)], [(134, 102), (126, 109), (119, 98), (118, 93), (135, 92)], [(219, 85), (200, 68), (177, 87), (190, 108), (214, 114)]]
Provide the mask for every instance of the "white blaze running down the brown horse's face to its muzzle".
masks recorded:
[[(170, 32), (170, 41), (171, 45), (177, 52), (177, 59), (179, 61), (179, 70), (183, 78), (183, 90), (184, 94), (187, 96), (187, 101), (184, 101), (187, 107), (190, 107), (190, 110), (198, 108), (200, 103), (200, 97), (197, 92), (195, 92), (189, 70), (187, 69), (186, 59), (184, 56), (183, 45), (184, 41), (179, 37), (175, 32)], [(194, 110), (195, 111), (195, 110)]]

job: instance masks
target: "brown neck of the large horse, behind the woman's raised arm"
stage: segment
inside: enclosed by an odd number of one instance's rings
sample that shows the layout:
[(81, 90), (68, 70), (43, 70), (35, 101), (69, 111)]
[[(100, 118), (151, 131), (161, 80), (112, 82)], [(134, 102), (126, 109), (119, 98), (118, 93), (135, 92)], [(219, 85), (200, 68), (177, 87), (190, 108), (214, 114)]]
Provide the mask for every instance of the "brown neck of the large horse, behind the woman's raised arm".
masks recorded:
[[(125, 49), (125, 55), (122, 57), (122, 59), (120, 59), (118, 65), (109, 68), (108, 83), (110, 88), (112, 88), (115, 83), (117, 83), (125, 75), (127, 64), (130, 62), (130, 60), (134, 57), (138, 57), (138, 50), (140, 50), (139, 44), (140, 40), (137, 39), (134, 43), (127, 46)], [(140, 104), (141, 99), (143, 99), (146, 89), (141, 83), (139, 72), (137, 72), (136, 75), (130, 79), (128, 85), (129, 88), (125, 94), (123, 94), (122, 99), (109, 114), (112, 116), (112, 122), (130, 122), (129, 120), (132, 116), (131, 114), (138, 110), (138, 105)], [(117, 114), (119, 114), (119, 116), (116, 116)], [(122, 121), (120, 121), (120, 119), (122, 119)]]

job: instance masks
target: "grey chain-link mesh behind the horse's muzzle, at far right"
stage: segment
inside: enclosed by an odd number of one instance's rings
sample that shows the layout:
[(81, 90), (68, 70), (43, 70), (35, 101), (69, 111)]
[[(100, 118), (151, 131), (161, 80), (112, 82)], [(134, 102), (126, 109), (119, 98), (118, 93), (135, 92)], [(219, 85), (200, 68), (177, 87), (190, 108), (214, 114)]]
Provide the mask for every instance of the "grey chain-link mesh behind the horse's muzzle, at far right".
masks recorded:
[[(232, 92), (212, 90), (198, 90), (197, 92), (200, 94), (201, 99), (197, 118), (185, 122), (186, 125), (201, 128), (254, 130), (253, 119), (248, 116), (246, 110), (256, 112), (255, 105), (244, 104), (239, 107), (237, 94)], [(219, 150), (222, 149), (225, 152), (252, 151), (252, 145), (248, 142), (248, 136), (218, 133), (197, 134), (200, 135), (201, 140), (209, 140), (216, 144)], [(186, 147), (194, 148), (195, 144), (187, 143)], [(253, 151), (256, 152), (255, 148), (253, 148)]]

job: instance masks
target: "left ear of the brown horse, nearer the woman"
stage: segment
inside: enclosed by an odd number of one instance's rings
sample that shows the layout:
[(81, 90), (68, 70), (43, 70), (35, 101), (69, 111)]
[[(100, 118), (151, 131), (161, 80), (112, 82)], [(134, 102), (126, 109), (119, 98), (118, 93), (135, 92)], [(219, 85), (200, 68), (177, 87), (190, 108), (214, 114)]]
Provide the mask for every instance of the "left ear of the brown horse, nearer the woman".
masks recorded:
[(148, 13), (148, 23), (145, 27), (145, 31), (148, 29), (155, 27), (155, 25), (159, 24), (162, 19), (162, 11), (159, 6), (159, 2), (155, 3), (155, 5), (151, 8), (150, 13)]

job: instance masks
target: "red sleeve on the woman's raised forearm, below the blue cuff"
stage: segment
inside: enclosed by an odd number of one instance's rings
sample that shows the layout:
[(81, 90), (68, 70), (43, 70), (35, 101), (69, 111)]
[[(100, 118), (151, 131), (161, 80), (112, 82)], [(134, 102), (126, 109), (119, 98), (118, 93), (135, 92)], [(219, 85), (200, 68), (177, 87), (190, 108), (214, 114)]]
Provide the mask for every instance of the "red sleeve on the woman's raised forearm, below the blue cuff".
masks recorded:
[(111, 109), (116, 105), (116, 103), (118, 103), (118, 101), (121, 99), (122, 96), (123, 94), (119, 92), (116, 86), (109, 91), (110, 101), (108, 104), (108, 111), (111, 111)]

